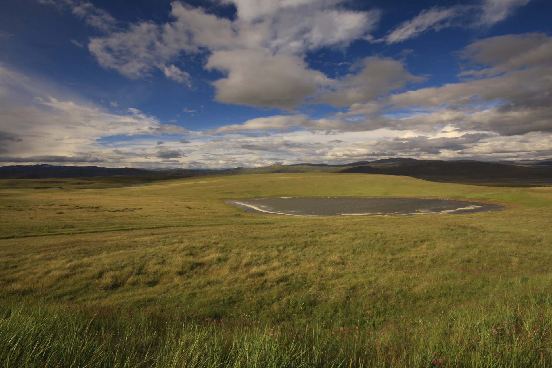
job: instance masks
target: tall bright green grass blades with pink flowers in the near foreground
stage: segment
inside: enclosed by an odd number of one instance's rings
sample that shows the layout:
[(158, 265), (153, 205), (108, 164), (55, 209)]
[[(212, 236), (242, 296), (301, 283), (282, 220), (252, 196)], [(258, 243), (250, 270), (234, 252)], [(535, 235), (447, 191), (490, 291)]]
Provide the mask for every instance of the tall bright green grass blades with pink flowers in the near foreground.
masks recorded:
[[(13, 303), (2, 310), (6, 367), (547, 367), (550, 308), (465, 306), (374, 329)], [(493, 308), (490, 308), (493, 309)], [(433, 321), (433, 322), (428, 322)], [(536, 326), (536, 327), (535, 327)], [(442, 361), (442, 363), (441, 363)]]

